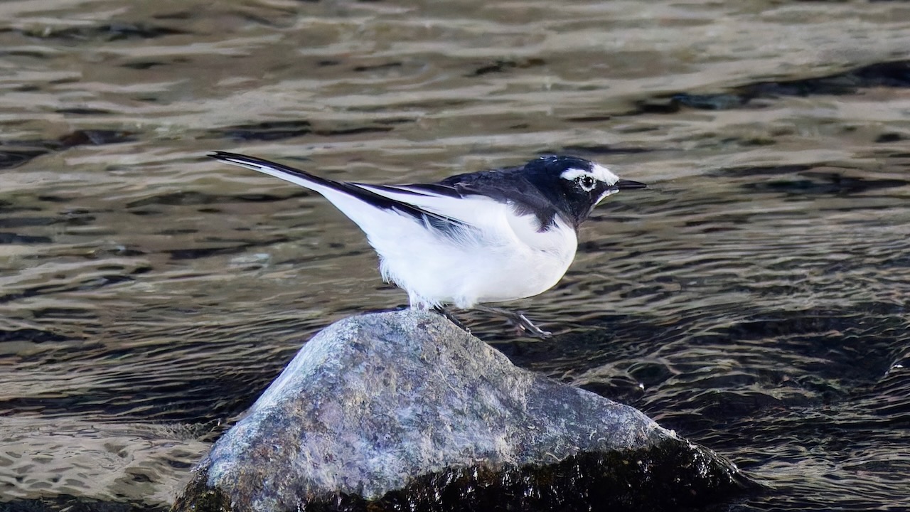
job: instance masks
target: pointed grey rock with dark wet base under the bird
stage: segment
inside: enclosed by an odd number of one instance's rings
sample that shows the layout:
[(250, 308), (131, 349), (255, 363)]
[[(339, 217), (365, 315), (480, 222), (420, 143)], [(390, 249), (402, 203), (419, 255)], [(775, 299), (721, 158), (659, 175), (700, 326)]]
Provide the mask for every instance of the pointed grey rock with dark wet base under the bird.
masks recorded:
[(174, 510), (653, 509), (748, 485), (632, 407), (409, 310), (306, 343)]

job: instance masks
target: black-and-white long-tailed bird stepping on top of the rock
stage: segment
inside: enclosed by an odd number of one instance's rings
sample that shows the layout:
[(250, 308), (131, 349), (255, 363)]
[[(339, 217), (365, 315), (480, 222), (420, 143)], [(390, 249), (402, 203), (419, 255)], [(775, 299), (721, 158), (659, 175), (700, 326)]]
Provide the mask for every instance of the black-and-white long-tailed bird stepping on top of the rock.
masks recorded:
[(329, 200), (367, 235), (383, 280), (408, 292), (411, 308), (436, 310), (456, 323), (449, 306), (496, 312), (539, 338), (551, 333), (523, 312), (489, 304), (551, 289), (574, 260), (579, 226), (594, 207), (620, 190), (647, 187), (561, 155), (404, 185), (327, 179), (227, 151), (208, 156)]

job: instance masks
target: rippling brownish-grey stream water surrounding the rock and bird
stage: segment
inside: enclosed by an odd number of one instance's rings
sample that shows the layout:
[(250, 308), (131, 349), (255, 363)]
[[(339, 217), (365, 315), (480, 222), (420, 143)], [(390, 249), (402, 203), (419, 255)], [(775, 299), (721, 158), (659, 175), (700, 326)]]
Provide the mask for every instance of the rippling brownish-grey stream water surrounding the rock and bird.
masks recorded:
[(211, 149), (651, 184), (510, 304), (554, 339), (462, 320), (732, 459), (734, 510), (910, 508), (908, 50), (903, 2), (0, 3), (0, 510), (166, 508), (308, 336), (406, 303)]

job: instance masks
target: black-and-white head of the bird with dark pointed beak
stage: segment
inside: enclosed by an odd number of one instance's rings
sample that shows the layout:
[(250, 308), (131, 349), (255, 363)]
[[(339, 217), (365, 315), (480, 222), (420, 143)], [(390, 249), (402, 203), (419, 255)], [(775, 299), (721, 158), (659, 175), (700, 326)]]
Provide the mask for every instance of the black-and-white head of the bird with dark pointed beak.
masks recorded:
[(575, 157), (534, 159), (525, 165), (525, 172), (575, 227), (607, 196), (623, 189), (647, 187), (638, 181), (620, 179), (596, 162)]

